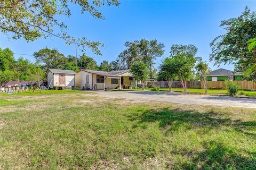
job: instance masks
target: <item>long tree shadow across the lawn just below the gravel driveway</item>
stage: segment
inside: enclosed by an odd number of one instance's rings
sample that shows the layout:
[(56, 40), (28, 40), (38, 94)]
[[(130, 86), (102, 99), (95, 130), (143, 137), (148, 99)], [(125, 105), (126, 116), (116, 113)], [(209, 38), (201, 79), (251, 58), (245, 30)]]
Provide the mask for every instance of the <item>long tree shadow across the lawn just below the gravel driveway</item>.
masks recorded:
[[(231, 118), (223, 118), (223, 115), (216, 113), (212, 110), (201, 113), (194, 110), (182, 110), (182, 109), (148, 109), (146, 111), (138, 110), (139, 114), (126, 115), (130, 121), (137, 121), (133, 128), (137, 128), (140, 124), (145, 128), (145, 123), (158, 122), (159, 128), (169, 131), (176, 131), (179, 128), (186, 127), (187, 130), (195, 128), (204, 128), (205, 130), (217, 129), (223, 126), (232, 128), (238, 132), (246, 135), (252, 135), (256, 138), (256, 133), (249, 133), (246, 130), (255, 129), (256, 122), (248, 121), (243, 122), (241, 120), (231, 120)], [(140, 114), (140, 112), (142, 112)], [(226, 114), (226, 117), (228, 115)]]

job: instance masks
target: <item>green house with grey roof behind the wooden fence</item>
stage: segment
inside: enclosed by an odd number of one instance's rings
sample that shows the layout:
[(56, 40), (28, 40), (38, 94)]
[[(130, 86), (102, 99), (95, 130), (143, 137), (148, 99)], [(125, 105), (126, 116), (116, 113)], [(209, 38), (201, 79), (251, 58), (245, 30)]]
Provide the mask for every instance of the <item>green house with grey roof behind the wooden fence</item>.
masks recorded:
[(207, 76), (207, 81), (225, 81), (225, 80), (243, 80), (242, 72), (234, 72), (226, 69), (218, 69), (210, 72)]

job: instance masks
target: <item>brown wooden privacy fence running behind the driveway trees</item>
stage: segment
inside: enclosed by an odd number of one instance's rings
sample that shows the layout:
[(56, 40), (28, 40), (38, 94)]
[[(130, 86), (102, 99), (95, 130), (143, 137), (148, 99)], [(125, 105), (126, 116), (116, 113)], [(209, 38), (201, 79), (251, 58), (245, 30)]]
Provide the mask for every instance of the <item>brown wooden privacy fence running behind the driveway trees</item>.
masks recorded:
[[(256, 89), (256, 82), (255, 81), (233, 81), (241, 87), (243, 90), (252, 90)], [(155, 81), (155, 82), (148, 82), (148, 86), (158, 86), (160, 88), (169, 88), (167, 81)], [(208, 89), (225, 89), (225, 81), (207, 81)], [(180, 81), (173, 81), (172, 88), (183, 88)], [(201, 81), (188, 81), (187, 88), (189, 89), (203, 89)]]

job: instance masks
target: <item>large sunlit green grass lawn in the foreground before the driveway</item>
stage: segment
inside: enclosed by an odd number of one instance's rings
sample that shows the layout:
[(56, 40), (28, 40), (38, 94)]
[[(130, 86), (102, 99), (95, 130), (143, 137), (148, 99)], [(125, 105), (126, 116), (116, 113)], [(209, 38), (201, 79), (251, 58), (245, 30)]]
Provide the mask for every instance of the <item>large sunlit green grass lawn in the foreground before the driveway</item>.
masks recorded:
[(86, 94), (0, 96), (0, 169), (256, 169), (255, 109)]

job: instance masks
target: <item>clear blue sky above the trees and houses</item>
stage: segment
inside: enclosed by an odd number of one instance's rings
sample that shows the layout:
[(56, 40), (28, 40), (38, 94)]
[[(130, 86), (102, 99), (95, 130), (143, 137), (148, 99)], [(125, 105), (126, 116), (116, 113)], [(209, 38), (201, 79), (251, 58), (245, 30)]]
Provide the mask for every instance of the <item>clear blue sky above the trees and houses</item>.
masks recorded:
[[(172, 44), (194, 44), (198, 48), (197, 56), (209, 62), (210, 43), (225, 30), (219, 27), (225, 19), (239, 16), (247, 5), (256, 11), (256, 1), (120, 1), (119, 7), (102, 7), (100, 11), (106, 20), (94, 19), (89, 14), (81, 14), (79, 7), (71, 6), (71, 18), (61, 20), (68, 25), (68, 32), (75, 37), (86, 37), (101, 41), (105, 47), (102, 56), (93, 55), (90, 50), (86, 55), (93, 57), (98, 64), (113, 61), (125, 49), (125, 41), (141, 38), (157, 39), (165, 45), (165, 54), (156, 61), (156, 67), (162, 58), (169, 56)], [(0, 47), (9, 47), (14, 53), (33, 54), (41, 48), (57, 48), (65, 55), (75, 55), (74, 45), (65, 45), (59, 38), (40, 38), (27, 43), (25, 40), (8, 39), (0, 33)], [(82, 52), (78, 50), (78, 55)], [(33, 56), (23, 56), (35, 61)], [(217, 69), (210, 63), (212, 69)], [(221, 65), (233, 70), (233, 65)]]

